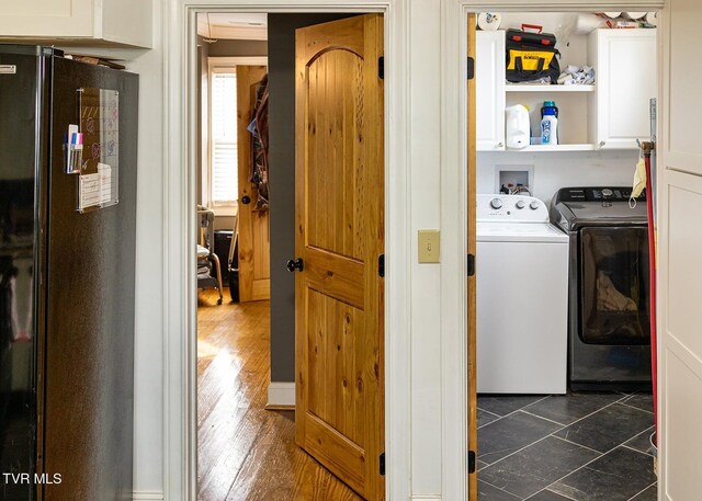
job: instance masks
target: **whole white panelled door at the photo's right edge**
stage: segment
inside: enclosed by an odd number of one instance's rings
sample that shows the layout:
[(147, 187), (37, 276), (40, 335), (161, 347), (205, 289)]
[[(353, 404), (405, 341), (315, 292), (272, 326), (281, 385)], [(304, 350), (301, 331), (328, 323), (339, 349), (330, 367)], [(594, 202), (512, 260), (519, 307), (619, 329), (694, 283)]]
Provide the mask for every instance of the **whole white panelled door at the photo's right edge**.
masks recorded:
[(658, 190), (658, 480), (659, 499), (687, 501), (700, 499), (702, 492), (702, 101), (698, 98), (702, 68), (690, 65), (700, 46), (702, 2), (666, 4), (657, 146), (663, 184)]

